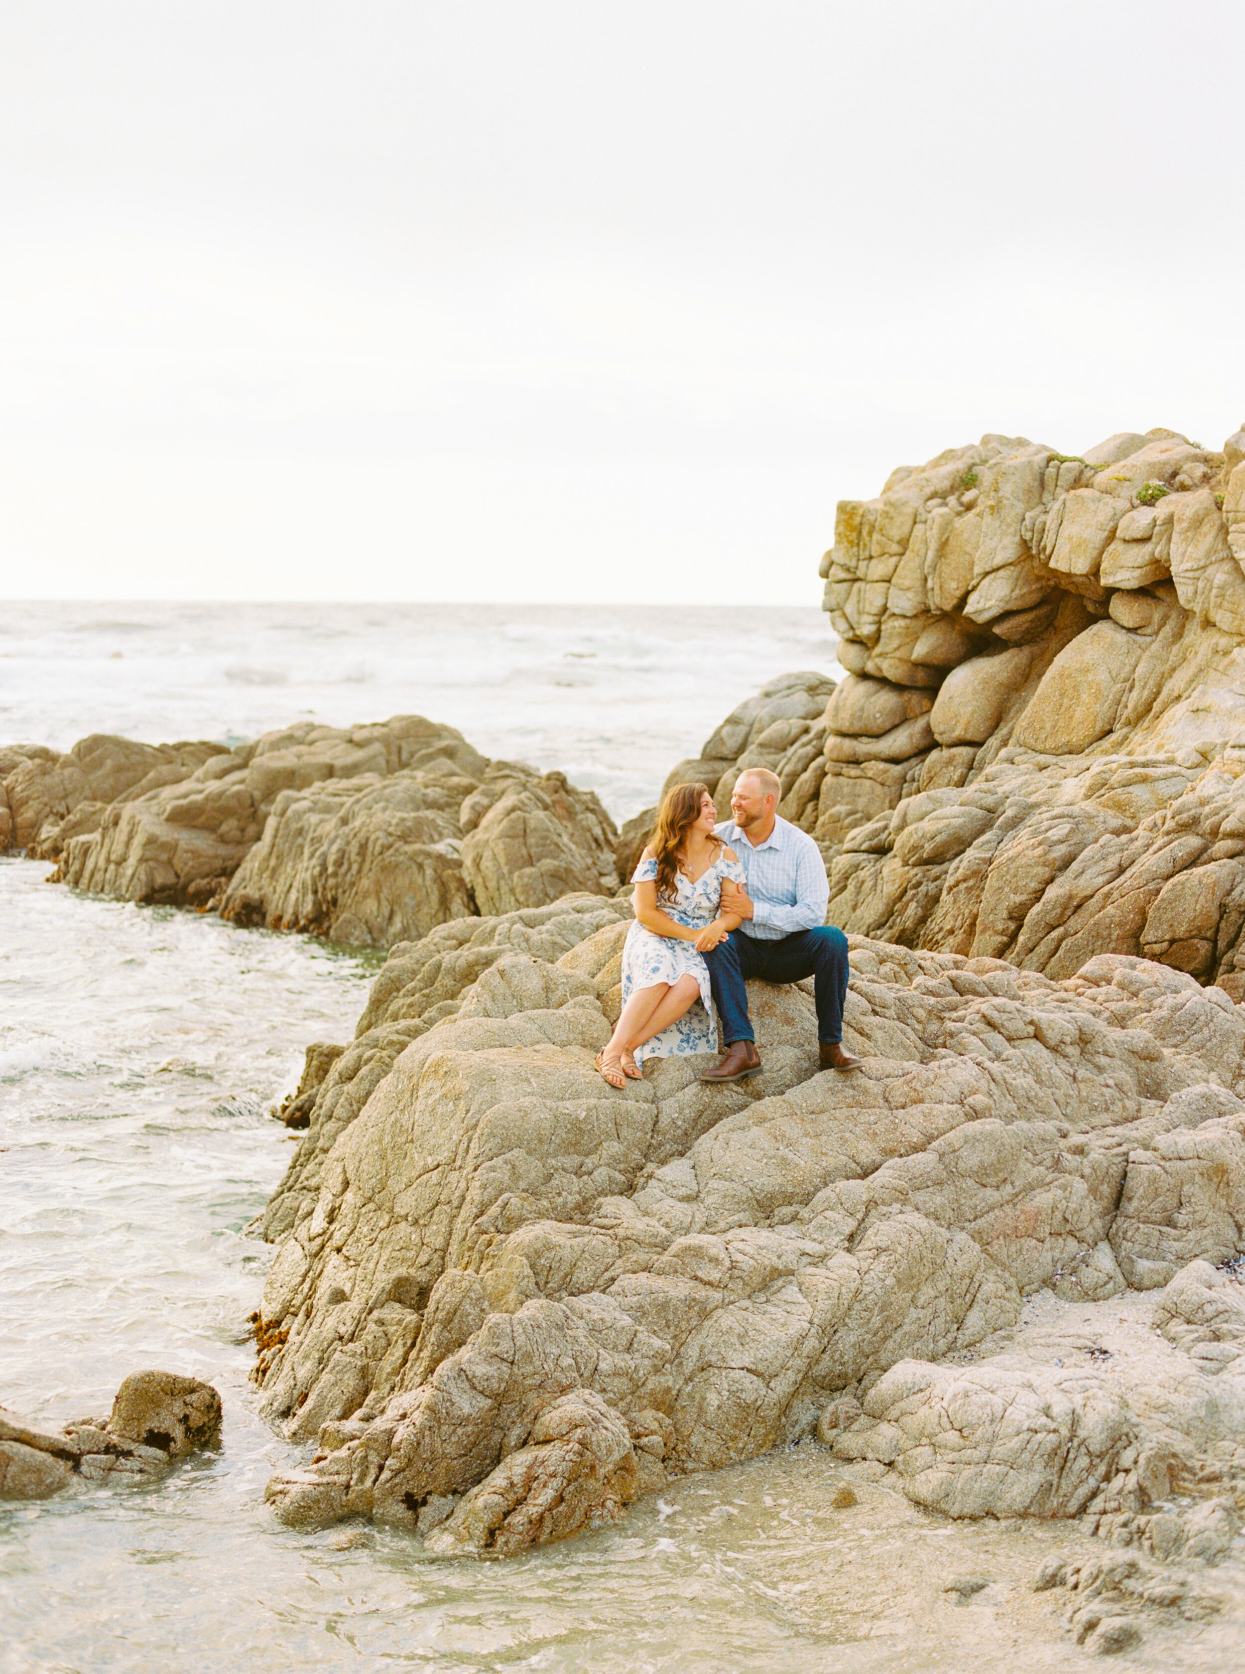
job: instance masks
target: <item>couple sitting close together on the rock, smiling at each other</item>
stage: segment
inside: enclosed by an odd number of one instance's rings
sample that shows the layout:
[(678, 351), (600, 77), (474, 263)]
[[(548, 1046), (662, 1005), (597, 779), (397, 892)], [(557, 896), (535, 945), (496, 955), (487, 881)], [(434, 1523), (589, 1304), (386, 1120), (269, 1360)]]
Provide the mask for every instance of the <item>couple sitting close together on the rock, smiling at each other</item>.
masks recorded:
[[(726, 1055), (701, 1081), (761, 1068), (745, 981), (813, 978), (822, 1065), (852, 1070), (843, 1050), (847, 937), (825, 924), (825, 862), (807, 832), (776, 814), (775, 773), (748, 768), (718, 825), (706, 785), (674, 785), (631, 882), (636, 922), (622, 949), (622, 1013), (597, 1070), (611, 1086), (639, 1080), (644, 1058)], [(746, 926), (746, 927), (745, 927)]]

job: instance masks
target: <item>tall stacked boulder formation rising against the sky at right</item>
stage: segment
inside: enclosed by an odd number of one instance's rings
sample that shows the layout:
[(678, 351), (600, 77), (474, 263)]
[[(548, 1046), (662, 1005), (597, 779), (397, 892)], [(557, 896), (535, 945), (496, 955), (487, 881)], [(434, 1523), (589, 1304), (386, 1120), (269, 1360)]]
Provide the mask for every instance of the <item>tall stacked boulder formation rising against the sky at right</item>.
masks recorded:
[(850, 671), (815, 820), (835, 922), (1245, 994), (1245, 434), (982, 437), (838, 507)]

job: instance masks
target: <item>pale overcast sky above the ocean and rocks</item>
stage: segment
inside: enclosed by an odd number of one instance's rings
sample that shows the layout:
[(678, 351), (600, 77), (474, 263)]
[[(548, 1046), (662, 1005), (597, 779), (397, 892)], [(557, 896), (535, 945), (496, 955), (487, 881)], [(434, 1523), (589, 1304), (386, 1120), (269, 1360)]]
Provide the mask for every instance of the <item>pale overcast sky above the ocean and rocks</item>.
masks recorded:
[(817, 604), (1245, 420), (1245, 7), (8, 0), (0, 598)]

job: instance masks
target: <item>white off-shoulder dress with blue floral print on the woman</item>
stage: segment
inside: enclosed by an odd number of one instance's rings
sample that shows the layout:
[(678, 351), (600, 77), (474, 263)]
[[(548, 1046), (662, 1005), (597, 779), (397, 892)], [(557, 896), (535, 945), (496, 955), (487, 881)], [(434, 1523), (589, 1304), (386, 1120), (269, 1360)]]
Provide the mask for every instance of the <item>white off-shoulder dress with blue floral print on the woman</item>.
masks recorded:
[[(658, 862), (641, 860), (631, 874), (631, 882), (651, 884), (656, 876)], [(725, 849), (694, 884), (683, 872), (676, 872), (674, 896), (658, 896), (658, 906), (676, 924), (703, 929), (718, 917), (723, 877), (730, 877), (736, 884), (745, 882), (743, 867), (738, 860), (728, 860)], [(696, 978), (701, 991), (699, 999), (693, 1001), (689, 1009), (668, 1030), (638, 1046), (636, 1063), (643, 1063), (646, 1058), (681, 1058), (691, 1053), (716, 1051), (718, 1019), (713, 1014), (710, 968), (691, 942), (676, 941), (673, 936), (654, 936), (643, 924), (633, 924), (622, 946), (622, 1004), (626, 1006), (638, 988), (653, 988), (654, 983), (678, 983), (681, 976)]]

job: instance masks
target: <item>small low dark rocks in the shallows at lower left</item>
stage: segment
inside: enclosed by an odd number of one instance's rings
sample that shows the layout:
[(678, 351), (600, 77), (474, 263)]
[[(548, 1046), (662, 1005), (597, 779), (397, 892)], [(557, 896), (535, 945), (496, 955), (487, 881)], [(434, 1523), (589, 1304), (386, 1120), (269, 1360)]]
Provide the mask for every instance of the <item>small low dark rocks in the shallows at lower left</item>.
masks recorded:
[(171, 1371), (141, 1371), (117, 1389), (107, 1418), (64, 1430), (0, 1408), (0, 1500), (47, 1500), (74, 1480), (151, 1481), (189, 1453), (216, 1446), (221, 1398)]

